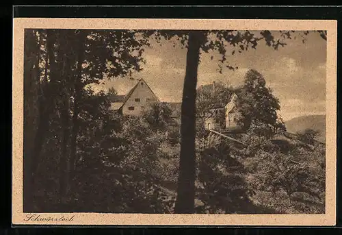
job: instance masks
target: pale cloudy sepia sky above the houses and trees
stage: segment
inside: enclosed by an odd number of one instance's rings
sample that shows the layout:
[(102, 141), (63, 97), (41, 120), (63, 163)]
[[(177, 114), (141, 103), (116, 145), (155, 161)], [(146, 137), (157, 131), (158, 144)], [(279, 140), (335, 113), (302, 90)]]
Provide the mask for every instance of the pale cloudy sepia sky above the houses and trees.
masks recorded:
[[(259, 34), (259, 32), (254, 32)], [(278, 32), (272, 32), (274, 36)], [(219, 53), (211, 51), (201, 53), (198, 67), (198, 86), (213, 81), (239, 86), (249, 69), (256, 69), (272, 88), (280, 101), (280, 116), (285, 121), (296, 116), (325, 114), (326, 112), (326, 40), (317, 32), (306, 36), (305, 43), (298, 32), (298, 38), (286, 40), (287, 45), (277, 51), (259, 42), (257, 49), (248, 49), (231, 55), (232, 46), (226, 47), (229, 64), (238, 66), (232, 71), (224, 69), (218, 72)], [(174, 47), (175, 46), (175, 47)], [(104, 84), (94, 86), (94, 90), (114, 88), (119, 95), (125, 95), (137, 82), (144, 78), (161, 101), (181, 102), (185, 77), (187, 49), (178, 41), (151, 41), (143, 57), (146, 64), (142, 71), (133, 73), (134, 79), (111, 78)], [(211, 60), (213, 56), (213, 60)]]

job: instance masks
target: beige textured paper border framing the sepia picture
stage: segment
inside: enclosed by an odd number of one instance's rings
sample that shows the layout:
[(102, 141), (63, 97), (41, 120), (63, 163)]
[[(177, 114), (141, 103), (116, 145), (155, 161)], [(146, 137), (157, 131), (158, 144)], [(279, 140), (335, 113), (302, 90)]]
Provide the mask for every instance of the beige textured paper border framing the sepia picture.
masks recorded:
[[(51, 213), (70, 221), (26, 221), (23, 213), (23, 42), (25, 28), (327, 30), (326, 214), (100, 214)], [(49, 225), (334, 225), (336, 217), (337, 21), (14, 18), (12, 223)]]

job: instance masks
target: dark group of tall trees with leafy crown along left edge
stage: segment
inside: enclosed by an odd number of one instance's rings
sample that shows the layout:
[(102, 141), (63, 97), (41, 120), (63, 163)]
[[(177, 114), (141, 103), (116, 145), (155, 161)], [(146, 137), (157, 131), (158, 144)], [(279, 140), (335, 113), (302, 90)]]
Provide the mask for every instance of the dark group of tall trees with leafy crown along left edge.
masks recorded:
[(62, 128), (54, 138), (62, 141), (57, 144), (61, 146), (59, 193), (65, 197), (75, 169), (84, 88), (105, 74), (120, 77), (139, 71), (146, 42), (127, 30), (25, 29), (25, 211), (33, 210), (36, 174), (43, 162), (42, 149), (49, 142), (52, 117), (60, 119)]

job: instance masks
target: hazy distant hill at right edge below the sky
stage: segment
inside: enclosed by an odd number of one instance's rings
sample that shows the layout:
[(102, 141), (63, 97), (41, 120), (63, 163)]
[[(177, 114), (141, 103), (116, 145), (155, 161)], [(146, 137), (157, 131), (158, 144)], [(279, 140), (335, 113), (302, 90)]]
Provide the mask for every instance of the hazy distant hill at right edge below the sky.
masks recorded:
[(317, 140), (326, 143), (326, 115), (298, 116), (287, 121), (287, 132), (295, 134), (298, 131), (310, 128), (319, 131)]

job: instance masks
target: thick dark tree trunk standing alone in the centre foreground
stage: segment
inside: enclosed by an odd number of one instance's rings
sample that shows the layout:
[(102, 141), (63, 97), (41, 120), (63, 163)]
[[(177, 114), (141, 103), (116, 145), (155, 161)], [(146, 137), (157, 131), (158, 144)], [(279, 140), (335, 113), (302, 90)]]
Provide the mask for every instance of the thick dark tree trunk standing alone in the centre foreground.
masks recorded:
[(187, 66), (181, 106), (181, 153), (177, 185), (176, 214), (193, 214), (195, 208), (196, 181), (196, 86), (202, 34), (189, 32)]

